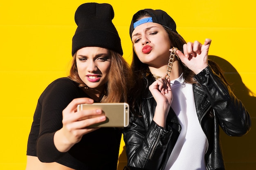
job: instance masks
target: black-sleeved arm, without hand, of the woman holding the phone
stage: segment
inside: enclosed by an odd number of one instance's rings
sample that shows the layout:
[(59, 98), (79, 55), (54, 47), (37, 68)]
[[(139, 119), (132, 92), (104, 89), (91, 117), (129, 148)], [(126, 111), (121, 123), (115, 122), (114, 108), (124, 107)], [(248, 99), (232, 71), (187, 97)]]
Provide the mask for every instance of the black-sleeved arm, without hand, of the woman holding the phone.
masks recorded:
[(64, 155), (54, 145), (54, 134), (62, 128), (62, 110), (76, 97), (76, 88), (72, 86), (67, 80), (57, 79), (47, 86), (38, 100), (41, 110), (36, 111), (41, 112), (41, 116), (36, 150), (42, 162), (53, 162)]

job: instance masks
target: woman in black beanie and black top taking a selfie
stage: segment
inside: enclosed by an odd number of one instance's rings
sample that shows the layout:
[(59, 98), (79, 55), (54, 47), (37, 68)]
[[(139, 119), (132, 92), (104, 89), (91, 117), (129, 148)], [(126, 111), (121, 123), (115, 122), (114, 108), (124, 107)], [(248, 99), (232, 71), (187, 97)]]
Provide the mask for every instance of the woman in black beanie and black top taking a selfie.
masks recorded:
[[(101, 110), (77, 105), (127, 102), (129, 65), (110, 4), (85, 3), (75, 13), (70, 76), (49, 84), (38, 100), (27, 145), (27, 170), (117, 169), (121, 131), (91, 128)], [(40, 161), (39, 161), (40, 160)]]

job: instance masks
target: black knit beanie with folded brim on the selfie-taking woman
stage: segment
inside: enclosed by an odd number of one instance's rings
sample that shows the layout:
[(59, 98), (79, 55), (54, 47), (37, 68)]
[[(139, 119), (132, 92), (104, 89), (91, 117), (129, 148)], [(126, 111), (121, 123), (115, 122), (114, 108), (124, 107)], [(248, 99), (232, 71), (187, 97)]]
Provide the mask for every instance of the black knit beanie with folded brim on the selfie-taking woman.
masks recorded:
[(123, 55), (121, 40), (112, 23), (114, 10), (110, 4), (81, 4), (75, 13), (77, 29), (72, 39), (72, 56), (87, 46), (98, 46)]

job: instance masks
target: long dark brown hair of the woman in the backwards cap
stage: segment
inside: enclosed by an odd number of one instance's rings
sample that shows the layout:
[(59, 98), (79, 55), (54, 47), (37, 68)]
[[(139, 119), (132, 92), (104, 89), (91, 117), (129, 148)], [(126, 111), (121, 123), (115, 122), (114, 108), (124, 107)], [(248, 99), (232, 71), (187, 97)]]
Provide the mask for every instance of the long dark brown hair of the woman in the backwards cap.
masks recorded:
[[(134, 15), (134, 22), (140, 20), (141, 18), (144, 17), (151, 17), (150, 14), (146, 11), (140, 11), (137, 14)], [(166, 30), (169, 39), (171, 40), (172, 46), (170, 49), (174, 46), (180, 51), (183, 52), (183, 45), (186, 44), (186, 41), (182, 36), (165, 26), (163, 26), (164, 29)], [(187, 83), (198, 83), (196, 79), (194, 78), (195, 73), (191, 71), (185, 64), (181, 62), (181, 60), (178, 60), (180, 65), (182, 66), (183, 70), (183, 79)], [(225, 77), (223, 76), (223, 71), (220, 69), (218, 64), (216, 62), (213, 62), (212, 60), (209, 60), (209, 65), (212, 66), (213, 71), (217, 73), (224, 81), (227, 83)], [(132, 78), (133, 82), (135, 82), (135, 85), (133, 88), (130, 90), (131, 94), (131, 101), (130, 104), (132, 105), (133, 111), (136, 109), (141, 108), (141, 96), (144, 93), (144, 90), (148, 88), (150, 84), (148, 84), (148, 76), (151, 75), (150, 70), (148, 68), (147, 64), (142, 63), (137, 54), (135, 53), (135, 50), (133, 49), (133, 57), (132, 57), (132, 64), (131, 64), (131, 69), (132, 69)], [(152, 77), (152, 76), (151, 76)], [(228, 84), (228, 83), (227, 83)], [(134, 113), (136, 113), (134, 111)]]

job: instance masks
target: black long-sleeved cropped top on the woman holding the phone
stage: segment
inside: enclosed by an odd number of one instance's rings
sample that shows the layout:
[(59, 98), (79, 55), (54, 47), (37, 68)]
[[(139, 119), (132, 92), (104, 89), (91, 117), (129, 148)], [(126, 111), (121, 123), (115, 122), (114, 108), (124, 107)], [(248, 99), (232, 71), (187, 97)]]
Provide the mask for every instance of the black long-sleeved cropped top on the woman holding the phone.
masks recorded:
[(100, 128), (84, 135), (68, 152), (59, 152), (54, 133), (62, 128), (62, 111), (75, 98), (89, 97), (65, 78), (49, 84), (38, 99), (27, 144), (27, 155), (42, 162), (58, 162), (76, 170), (117, 169), (121, 130)]

